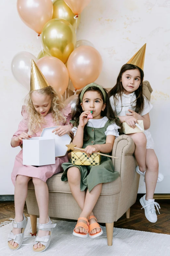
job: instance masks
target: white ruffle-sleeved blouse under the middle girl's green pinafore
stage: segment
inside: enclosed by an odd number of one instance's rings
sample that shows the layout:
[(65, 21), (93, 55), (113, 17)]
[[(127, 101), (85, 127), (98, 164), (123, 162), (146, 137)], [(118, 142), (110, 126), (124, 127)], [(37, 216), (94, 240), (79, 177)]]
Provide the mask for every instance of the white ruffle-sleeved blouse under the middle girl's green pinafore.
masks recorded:
[[(93, 128), (102, 128), (105, 126), (107, 121), (108, 121), (108, 118), (106, 116), (104, 116), (101, 119), (89, 119), (87, 126), (93, 127)], [(113, 123), (107, 127), (107, 129), (105, 131), (105, 135), (106, 136), (114, 135), (115, 137), (118, 137), (119, 136), (118, 129), (120, 129), (120, 127), (118, 125), (116, 125), (116, 123)], [(76, 132), (77, 132), (77, 127), (73, 127), (72, 132), (74, 133), (74, 136), (75, 136)]]

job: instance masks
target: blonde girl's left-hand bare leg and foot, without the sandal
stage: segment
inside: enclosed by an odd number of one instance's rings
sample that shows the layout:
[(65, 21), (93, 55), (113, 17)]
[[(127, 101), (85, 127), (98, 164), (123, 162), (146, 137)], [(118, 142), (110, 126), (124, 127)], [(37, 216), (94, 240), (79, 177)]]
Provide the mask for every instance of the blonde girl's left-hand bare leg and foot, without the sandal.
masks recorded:
[[(24, 175), (17, 175), (17, 178), (16, 178), (15, 192), (14, 192), (15, 221), (16, 222), (21, 222), (23, 220), (23, 208), (24, 208), (26, 197), (27, 197), (28, 181), (30, 179), (32, 179), (32, 178), (24, 176)], [(21, 229), (13, 228), (12, 233), (14, 235), (20, 234)], [(9, 242), (13, 247), (18, 246), (17, 243), (14, 243), (13, 239)]]

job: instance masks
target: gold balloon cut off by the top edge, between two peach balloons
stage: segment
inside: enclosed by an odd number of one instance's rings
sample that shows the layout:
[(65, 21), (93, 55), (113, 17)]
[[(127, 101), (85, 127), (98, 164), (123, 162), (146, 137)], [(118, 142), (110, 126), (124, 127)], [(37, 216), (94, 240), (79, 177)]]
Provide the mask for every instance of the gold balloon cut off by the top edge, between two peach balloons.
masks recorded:
[[(76, 29), (76, 19), (74, 19), (75, 14), (64, 2), (64, 0), (56, 0), (53, 2), (53, 16), (52, 19), (63, 19), (68, 21), (74, 29)], [(80, 23), (80, 15), (77, 18), (77, 28)]]

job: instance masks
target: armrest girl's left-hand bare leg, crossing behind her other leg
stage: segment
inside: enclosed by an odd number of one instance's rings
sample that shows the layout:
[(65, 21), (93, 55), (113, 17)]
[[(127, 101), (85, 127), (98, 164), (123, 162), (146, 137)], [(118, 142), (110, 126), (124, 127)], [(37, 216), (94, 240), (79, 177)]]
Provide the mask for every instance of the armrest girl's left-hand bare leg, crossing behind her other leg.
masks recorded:
[(145, 172), (146, 166), (146, 144), (147, 138), (143, 132), (128, 134), (135, 143), (135, 158), (139, 165), (139, 170)]

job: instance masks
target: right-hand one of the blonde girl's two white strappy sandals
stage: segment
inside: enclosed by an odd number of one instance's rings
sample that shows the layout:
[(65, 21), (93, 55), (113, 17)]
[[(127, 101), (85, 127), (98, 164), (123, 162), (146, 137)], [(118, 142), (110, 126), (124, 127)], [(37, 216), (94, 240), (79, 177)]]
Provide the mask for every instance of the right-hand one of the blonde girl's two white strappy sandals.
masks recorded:
[(45, 251), (49, 247), (52, 230), (53, 230), (53, 228), (55, 228), (55, 226), (56, 226), (56, 224), (52, 223), (52, 221), (50, 220), (50, 217), (49, 217), (48, 223), (38, 225), (38, 230), (50, 231), (50, 234), (46, 235), (46, 236), (42, 236), (42, 237), (36, 236), (34, 245), (36, 245), (36, 244), (38, 244), (38, 242), (40, 242), (43, 246), (40, 248), (37, 248), (37, 249), (34, 249), (34, 246), (33, 246), (34, 252), (42, 252), (42, 251)]

